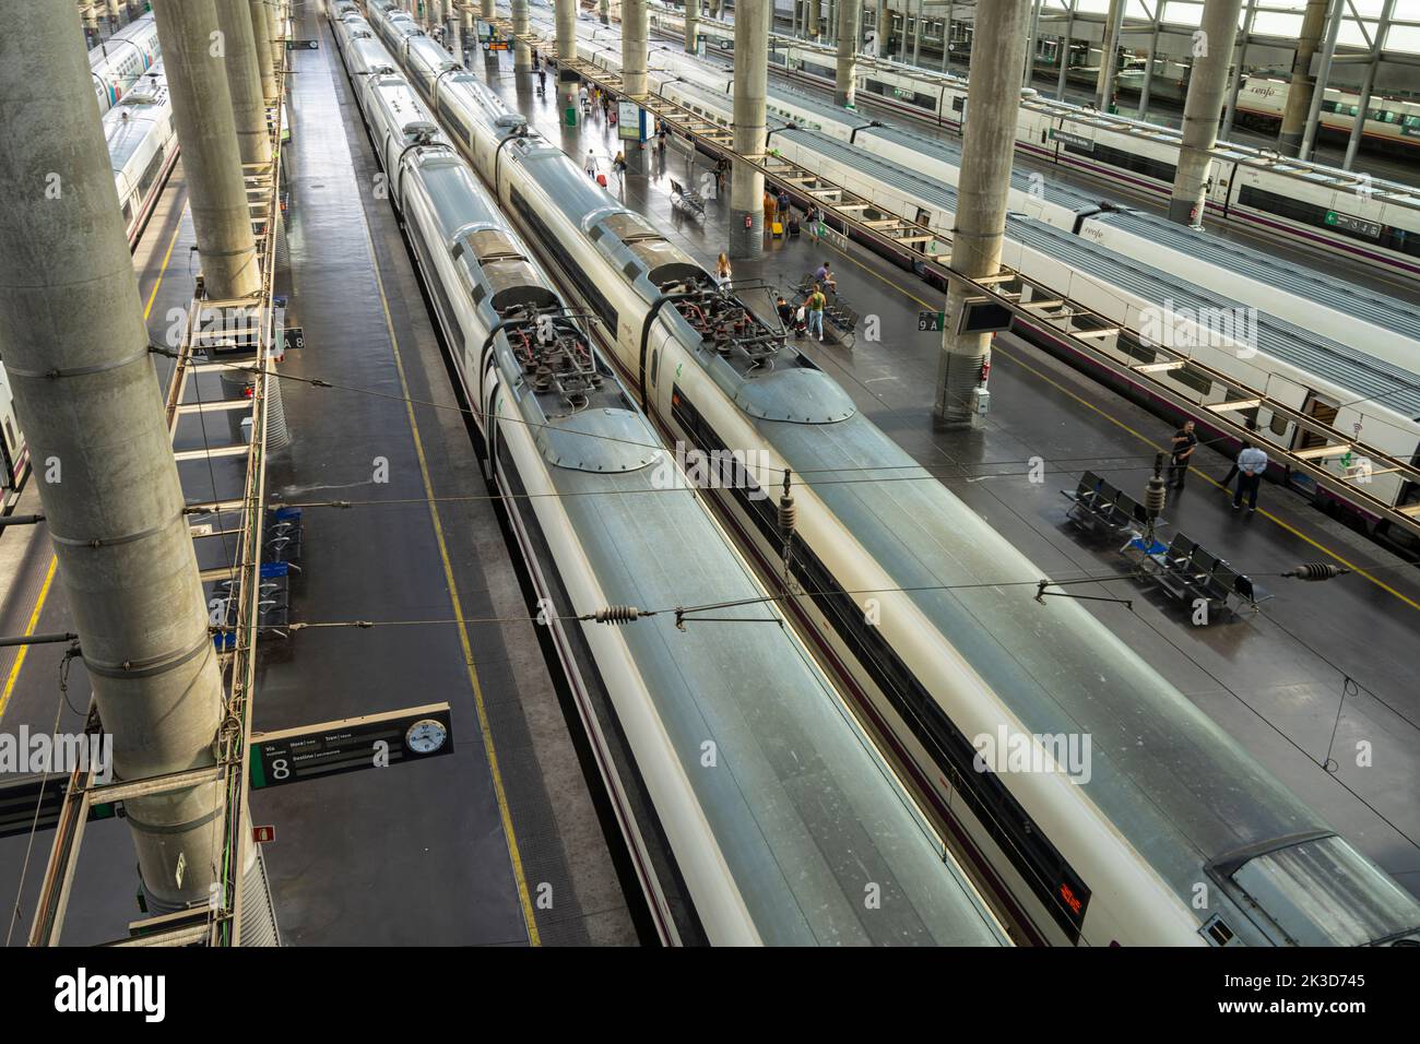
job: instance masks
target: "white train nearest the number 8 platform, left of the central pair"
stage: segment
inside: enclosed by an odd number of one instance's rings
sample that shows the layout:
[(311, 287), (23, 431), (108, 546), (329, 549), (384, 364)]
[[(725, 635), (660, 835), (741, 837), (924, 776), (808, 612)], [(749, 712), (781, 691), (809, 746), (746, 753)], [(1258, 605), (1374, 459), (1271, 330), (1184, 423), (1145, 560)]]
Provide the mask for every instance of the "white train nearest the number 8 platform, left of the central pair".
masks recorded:
[[(1008, 942), (420, 95), (352, 4), (328, 11), (662, 940)], [(743, 622), (589, 619), (710, 602)]]

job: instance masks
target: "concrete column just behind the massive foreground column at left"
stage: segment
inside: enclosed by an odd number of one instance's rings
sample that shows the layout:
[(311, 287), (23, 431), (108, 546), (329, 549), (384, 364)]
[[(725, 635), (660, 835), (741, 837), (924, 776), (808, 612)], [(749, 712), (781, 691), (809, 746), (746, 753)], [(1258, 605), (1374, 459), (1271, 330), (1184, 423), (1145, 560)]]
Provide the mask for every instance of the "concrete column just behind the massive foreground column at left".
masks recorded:
[(261, 288), (261, 271), (241, 179), (227, 62), (213, 54), (216, 4), (152, 1), (207, 294), (219, 300), (251, 297)]

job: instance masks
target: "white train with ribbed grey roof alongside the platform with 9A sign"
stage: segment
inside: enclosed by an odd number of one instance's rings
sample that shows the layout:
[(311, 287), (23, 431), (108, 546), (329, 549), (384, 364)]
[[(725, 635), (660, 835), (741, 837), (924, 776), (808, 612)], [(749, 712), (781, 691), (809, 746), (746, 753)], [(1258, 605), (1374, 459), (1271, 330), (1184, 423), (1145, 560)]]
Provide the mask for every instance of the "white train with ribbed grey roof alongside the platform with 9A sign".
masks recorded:
[[(584, 37), (598, 31), (582, 27)], [(578, 48), (585, 60), (611, 71), (621, 68), (619, 50), (601, 40), (579, 38)], [(730, 95), (723, 84), (701, 85), (703, 67), (667, 53), (653, 54), (648, 67), (648, 80), (659, 84), (662, 97), (697, 116), (730, 124)], [(950, 240), (960, 163), (956, 145), (883, 126), (788, 88), (771, 87), (767, 107), (768, 145), (784, 159)], [(1139, 331), (1142, 337), (1120, 332), (1096, 341), (1115, 359), (1149, 364), (1157, 345), (1180, 349), (1295, 410), (1356, 432), (1393, 457), (1420, 457), (1420, 308), (1206, 232), (1045, 186), (1024, 173), (1012, 179), (1011, 205), (1018, 213), (1007, 227), (1005, 263), (1055, 293), (1068, 290), (1123, 331)], [(943, 249), (930, 241), (916, 246), (923, 256)], [(1048, 322), (1020, 320), (1017, 328), (1099, 369), (1098, 358), (1074, 352)], [(1150, 328), (1153, 342), (1143, 344)], [(1118, 381), (1113, 374), (1109, 379)], [(1223, 385), (1194, 369), (1170, 371), (1162, 379), (1197, 406), (1206, 426), (1228, 398)], [(1137, 375), (1127, 389), (1149, 401), (1157, 398)], [(1258, 409), (1244, 416), (1265, 445), (1314, 445), (1314, 436), (1285, 416)], [(1363, 482), (1363, 491), (1387, 506), (1404, 509), (1420, 501), (1420, 484), (1373, 467), (1359, 453), (1332, 456), (1323, 466)], [(1394, 543), (1413, 544), (1407, 533), (1377, 518), (1359, 499), (1339, 497), (1302, 473), (1288, 473), (1287, 480), (1325, 510), (1346, 514)]]

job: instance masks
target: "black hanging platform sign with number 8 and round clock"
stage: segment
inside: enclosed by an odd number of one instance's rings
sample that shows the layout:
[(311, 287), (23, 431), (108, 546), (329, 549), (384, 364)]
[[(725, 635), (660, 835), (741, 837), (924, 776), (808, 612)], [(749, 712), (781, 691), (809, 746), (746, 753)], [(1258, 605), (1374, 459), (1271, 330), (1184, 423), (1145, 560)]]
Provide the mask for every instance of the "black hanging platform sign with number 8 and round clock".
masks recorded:
[(346, 717), (253, 736), (251, 787), (278, 787), (452, 753), (447, 703)]

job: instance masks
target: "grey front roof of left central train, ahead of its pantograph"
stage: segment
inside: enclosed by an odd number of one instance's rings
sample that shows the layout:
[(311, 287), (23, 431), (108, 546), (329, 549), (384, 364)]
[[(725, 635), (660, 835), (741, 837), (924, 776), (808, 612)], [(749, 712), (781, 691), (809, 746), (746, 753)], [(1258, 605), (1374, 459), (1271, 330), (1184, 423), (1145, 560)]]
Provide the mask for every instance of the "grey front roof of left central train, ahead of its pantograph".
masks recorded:
[[(692, 491), (655, 489), (650, 469), (555, 469), (552, 477), (568, 494), (562, 506), (611, 604), (763, 597)], [(744, 622), (690, 622), (679, 631), (667, 614), (621, 635), (761, 937), (772, 945), (1003, 945), (980, 898), (944, 861), (804, 648), (764, 622), (775, 619), (772, 611), (760, 604), (716, 615)], [(707, 740), (716, 744), (716, 768), (700, 760)], [(863, 888), (872, 881), (882, 883), (885, 903), (865, 910)]]

